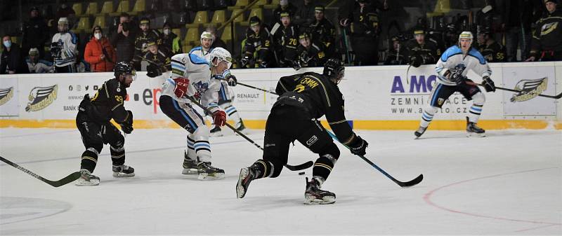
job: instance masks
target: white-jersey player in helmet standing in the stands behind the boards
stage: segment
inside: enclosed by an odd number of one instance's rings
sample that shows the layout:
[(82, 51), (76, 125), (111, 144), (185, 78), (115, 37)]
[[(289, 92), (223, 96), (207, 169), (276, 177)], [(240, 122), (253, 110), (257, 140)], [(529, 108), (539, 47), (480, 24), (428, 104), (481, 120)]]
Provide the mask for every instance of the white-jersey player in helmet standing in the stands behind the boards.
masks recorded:
[(68, 28), (67, 18), (58, 19), (58, 33), (51, 41), (51, 55), (55, 60), (56, 73), (75, 73), (78, 37)]

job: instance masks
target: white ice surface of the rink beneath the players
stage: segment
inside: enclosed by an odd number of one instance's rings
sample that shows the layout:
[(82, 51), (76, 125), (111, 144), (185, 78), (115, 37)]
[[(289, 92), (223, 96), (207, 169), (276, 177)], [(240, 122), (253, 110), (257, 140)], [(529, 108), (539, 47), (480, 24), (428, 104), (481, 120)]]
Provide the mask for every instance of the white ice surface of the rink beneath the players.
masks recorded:
[[(213, 165), (226, 178), (181, 174), (183, 130), (135, 130), (126, 137), (130, 179), (112, 177), (109, 146), (94, 174), (100, 186), (53, 188), (0, 164), (0, 235), (562, 235), (562, 132), (488, 130), (488, 137), (428, 130), (358, 131), (367, 158), (400, 188), (339, 145), (341, 157), (322, 188), (331, 205), (305, 205), (306, 175), (284, 169), (251, 183), (243, 199), (241, 167), (261, 151), (241, 137), (211, 139)], [(263, 130), (251, 139), (263, 143)], [(1, 129), (0, 155), (46, 179), (77, 171), (84, 151), (77, 130)], [(289, 164), (315, 160), (301, 144)]]

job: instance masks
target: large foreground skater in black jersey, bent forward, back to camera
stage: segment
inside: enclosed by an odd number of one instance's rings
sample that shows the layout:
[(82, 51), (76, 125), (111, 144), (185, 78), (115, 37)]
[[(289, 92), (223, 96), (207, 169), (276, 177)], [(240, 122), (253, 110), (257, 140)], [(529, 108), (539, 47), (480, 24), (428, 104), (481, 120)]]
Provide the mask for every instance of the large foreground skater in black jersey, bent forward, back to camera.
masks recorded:
[(334, 193), (322, 190), (320, 186), (332, 172), (339, 158), (339, 149), (316, 119), (326, 116), (336, 137), (350, 147), (351, 153), (365, 155), (368, 145), (355, 135), (344, 115), (344, 97), (338, 88), (344, 71), (343, 62), (330, 59), (323, 74), (307, 72), (280, 78), (275, 89), (280, 97), (273, 104), (266, 123), (263, 158), (240, 170), (236, 185), (238, 198), (246, 195), (254, 179), (279, 176), (283, 165), (287, 164), (289, 144), (298, 140), (320, 156), (314, 164), (311, 181), (306, 178), (304, 203), (330, 204), (336, 201)]

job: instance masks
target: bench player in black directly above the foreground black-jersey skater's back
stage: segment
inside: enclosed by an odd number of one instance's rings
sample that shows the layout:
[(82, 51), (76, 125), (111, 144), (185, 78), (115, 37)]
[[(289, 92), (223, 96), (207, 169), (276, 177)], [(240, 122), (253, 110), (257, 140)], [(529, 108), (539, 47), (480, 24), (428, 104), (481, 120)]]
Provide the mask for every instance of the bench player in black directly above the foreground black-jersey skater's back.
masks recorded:
[(327, 57), (322, 44), (312, 43), (311, 36), (307, 32), (299, 34), (299, 43), (299, 48), (296, 49), (297, 67), (322, 67), (324, 65)]

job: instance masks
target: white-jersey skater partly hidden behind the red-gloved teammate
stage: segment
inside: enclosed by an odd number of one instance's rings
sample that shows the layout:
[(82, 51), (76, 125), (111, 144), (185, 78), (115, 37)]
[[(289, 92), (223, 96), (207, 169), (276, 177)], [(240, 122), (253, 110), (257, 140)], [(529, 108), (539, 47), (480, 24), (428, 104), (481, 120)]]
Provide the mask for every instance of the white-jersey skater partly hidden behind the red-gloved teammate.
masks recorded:
[[(200, 57), (204, 57), (205, 59), (209, 60), (211, 56), (211, 52), (214, 48), (211, 48), (211, 44), (213, 44), (214, 36), (211, 32), (203, 32), (201, 34), (201, 46), (192, 48), (190, 53), (198, 55)], [(221, 106), (221, 109), (226, 111), (228, 114), (228, 118), (230, 120), (234, 120), (234, 127), (236, 130), (241, 131), (244, 130), (244, 123), (242, 122), (242, 118), (240, 118), (240, 114), (236, 110), (236, 107), (233, 106), (232, 100), (232, 93), (228, 88), (230, 86), (236, 86), (237, 80), (233, 74), (230, 74), (230, 70), (226, 74), (219, 74), (216, 76), (218, 79), (214, 80), (216, 83), (220, 83), (221, 89), (218, 90), (218, 106)], [(220, 137), (223, 136), (221, 132), (221, 127), (218, 125), (214, 125), (213, 129), (211, 129), (211, 136)]]

